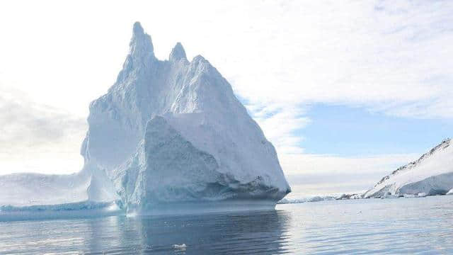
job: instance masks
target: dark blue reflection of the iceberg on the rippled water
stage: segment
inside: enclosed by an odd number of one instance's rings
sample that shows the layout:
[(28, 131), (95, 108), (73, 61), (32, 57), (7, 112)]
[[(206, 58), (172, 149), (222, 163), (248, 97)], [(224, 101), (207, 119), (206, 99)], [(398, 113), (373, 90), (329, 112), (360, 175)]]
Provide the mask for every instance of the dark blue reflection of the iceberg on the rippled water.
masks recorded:
[(286, 211), (0, 222), (0, 254), (282, 252)]

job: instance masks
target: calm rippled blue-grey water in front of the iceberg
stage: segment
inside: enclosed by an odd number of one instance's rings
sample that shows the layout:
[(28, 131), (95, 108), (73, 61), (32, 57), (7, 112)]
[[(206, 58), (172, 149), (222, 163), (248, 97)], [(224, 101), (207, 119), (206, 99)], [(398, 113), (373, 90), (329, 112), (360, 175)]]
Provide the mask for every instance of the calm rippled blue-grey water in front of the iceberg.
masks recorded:
[(452, 223), (453, 196), (277, 205), (271, 212), (0, 222), (0, 254), (453, 254)]

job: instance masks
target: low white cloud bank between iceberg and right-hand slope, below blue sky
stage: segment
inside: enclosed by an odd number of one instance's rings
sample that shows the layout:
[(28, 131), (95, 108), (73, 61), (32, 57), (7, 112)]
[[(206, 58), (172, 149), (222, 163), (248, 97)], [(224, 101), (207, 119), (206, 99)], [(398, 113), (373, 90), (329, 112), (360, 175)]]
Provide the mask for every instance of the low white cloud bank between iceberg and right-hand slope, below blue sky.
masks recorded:
[(418, 154), (348, 158), (323, 154), (279, 155), (282, 169), (293, 188), (292, 197), (364, 191), (398, 166), (418, 157)]

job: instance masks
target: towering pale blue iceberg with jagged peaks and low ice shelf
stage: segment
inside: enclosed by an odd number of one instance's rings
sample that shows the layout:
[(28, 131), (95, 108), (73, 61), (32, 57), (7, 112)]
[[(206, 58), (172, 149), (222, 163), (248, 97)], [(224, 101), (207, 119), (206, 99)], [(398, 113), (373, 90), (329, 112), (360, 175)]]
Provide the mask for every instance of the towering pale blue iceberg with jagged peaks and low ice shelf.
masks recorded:
[(33, 190), (33, 205), (115, 202), (138, 214), (207, 202), (269, 208), (290, 192), (273, 145), (228, 81), (202, 56), (187, 60), (179, 42), (157, 60), (139, 23), (117, 81), (90, 104), (88, 125), (79, 174), (0, 176), (1, 189), (21, 190), (0, 194), (0, 205), (29, 205), (21, 198), (28, 179), (45, 186)]

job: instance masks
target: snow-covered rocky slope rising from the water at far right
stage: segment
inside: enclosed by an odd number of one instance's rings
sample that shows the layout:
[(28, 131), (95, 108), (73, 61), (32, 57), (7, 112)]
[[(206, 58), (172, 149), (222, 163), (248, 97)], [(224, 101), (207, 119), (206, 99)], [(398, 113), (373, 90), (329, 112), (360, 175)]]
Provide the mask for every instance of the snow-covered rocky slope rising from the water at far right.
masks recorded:
[(364, 198), (445, 195), (453, 188), (453, 141), (447, 139), (420, 159), (385, 176)]

